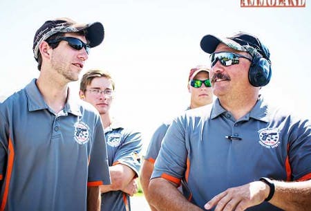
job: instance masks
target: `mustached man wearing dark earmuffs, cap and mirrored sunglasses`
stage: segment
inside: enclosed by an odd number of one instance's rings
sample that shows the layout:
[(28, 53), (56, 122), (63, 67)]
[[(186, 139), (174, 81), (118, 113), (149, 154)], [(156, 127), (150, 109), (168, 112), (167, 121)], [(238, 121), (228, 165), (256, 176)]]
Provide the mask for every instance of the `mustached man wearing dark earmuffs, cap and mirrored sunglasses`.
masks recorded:
[[(311, 125), (259, 95), (270, 53), (254, 35), (206, 35), (212, 106), (167, 132), (149, 185), (158, 210), (310, 210)], [(187, 187), (187, 199), (177, 188)], [(185, 192), (184, 192), (185, 195)]]

